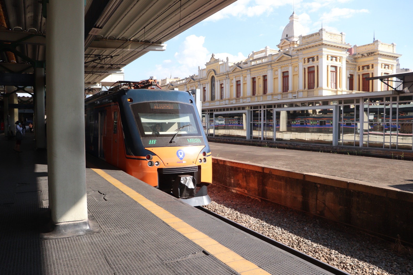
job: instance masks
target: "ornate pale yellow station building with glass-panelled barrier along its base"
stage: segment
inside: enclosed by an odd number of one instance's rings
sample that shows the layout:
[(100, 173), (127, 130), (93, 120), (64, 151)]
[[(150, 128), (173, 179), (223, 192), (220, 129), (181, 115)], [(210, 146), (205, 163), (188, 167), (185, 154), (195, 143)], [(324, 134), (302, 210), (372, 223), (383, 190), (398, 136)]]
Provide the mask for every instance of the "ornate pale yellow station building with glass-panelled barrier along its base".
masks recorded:
[(396, 45), (350, 45), (323, 28), (306, 35), (298, 19), (293, 12), (278, 50), (239, 62), (212, 54), (197, 75), (163, 88), (200, 90), (211, 137), (412, 150), (412, 96), (390, 91), (396, 78), (369, 79), (396, 73)]

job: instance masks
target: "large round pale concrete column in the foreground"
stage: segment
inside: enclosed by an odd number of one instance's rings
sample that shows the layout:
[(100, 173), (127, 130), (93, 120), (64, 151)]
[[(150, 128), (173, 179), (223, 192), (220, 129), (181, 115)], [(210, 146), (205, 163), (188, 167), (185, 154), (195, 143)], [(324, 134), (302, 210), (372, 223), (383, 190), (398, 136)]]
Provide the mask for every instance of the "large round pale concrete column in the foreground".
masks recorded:
[[(47, 7), (47, 165), (55, 230), (88, 225), (84, 116), (84, 0)], [(67, 26), (70, 26), (68, 29)], [(77, 223), (74, 223), (77, 222)], [(78, 227), (77, 227), (78, 226)], [(76, 229), (75, 229), (76, 230)]]

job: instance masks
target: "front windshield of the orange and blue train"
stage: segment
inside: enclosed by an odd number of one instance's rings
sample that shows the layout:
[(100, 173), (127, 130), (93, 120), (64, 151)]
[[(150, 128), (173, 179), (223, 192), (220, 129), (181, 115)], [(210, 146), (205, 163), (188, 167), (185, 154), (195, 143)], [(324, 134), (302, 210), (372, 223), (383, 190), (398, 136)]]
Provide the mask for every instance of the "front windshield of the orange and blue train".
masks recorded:
[[(141, 102), (131, 105), (142, 137), (200, 136), (197, 114), (190, 104)], [(178, 130), (179, 129), (179, 130)]]

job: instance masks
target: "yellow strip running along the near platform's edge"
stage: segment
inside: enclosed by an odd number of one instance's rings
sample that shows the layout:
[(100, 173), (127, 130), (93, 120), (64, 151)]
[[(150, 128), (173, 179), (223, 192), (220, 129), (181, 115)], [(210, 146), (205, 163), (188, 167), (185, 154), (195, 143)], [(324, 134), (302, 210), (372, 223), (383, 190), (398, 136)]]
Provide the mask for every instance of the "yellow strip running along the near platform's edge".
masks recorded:
[(238, 255), (228, 247), (223, 246), (216, 240), (208, 237), (202, 232), (199, 232), (199, 230), (197, 230), (196, 228), (193, 228), (188, 223), (185, 223), (180, 218), (177, 218), (173, 214), (163, 209), (161, 206), (158, 206), (154, 202), (145, 198), (132, 188), (124, 185), (119, 180), (116, 180), (116, 178), (105, 173), (101, 169), (92, 168), (92, 170), (95, 171), (102, 178), (107, 180), (109, 183), (112, 183), (115, 187), (119, 188), (123, 193), (134, 199), (147, 210), (152, 212), (155, 216), (157, 216), (165, 223), (170, 225), (176, 231), (180, 232), (182, 235), (192, 240), (192, 242), (198, 244), (200, 247), (205, 249), (205, 251), (208, 251), (209, 254), (213, 255), (218, 260), (225, 263), (227, 266), (229, 266), (236, 272), (242, 275), (270, 274), (256, 266), (254, 263), (251, 263), (242, 256)]

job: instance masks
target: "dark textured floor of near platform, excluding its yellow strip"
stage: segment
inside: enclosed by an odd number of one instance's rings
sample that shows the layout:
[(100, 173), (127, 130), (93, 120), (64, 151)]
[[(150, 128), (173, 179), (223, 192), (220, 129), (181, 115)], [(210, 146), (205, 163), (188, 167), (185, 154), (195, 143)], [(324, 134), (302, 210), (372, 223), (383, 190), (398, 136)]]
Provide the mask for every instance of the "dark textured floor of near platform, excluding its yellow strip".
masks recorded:
[[(13, 147), (14, 141), (0, 135), (1, 274), (237, 274), (90, 168), (86, 169), (88, 211), (101, 232), (40, 239), (47, 222), (46, 152), (34, 149), (30, 133), (22, 142), (22, 153)], [(101, 167), (268, 273), (330, 274), (122, 171)]]

